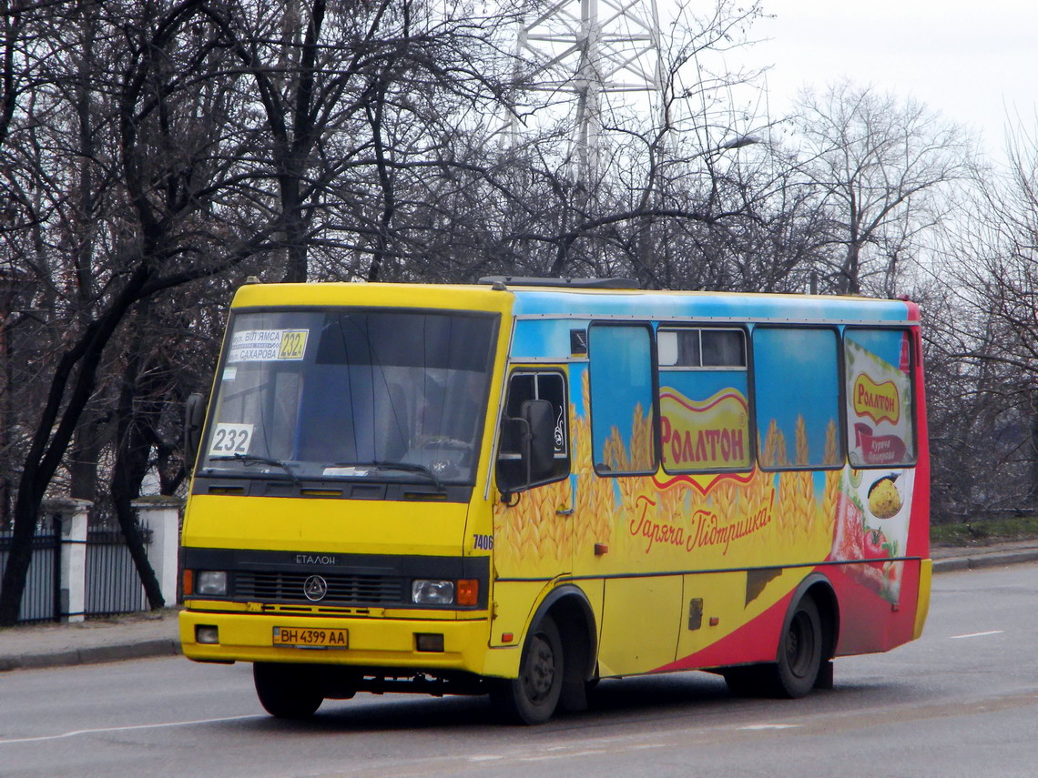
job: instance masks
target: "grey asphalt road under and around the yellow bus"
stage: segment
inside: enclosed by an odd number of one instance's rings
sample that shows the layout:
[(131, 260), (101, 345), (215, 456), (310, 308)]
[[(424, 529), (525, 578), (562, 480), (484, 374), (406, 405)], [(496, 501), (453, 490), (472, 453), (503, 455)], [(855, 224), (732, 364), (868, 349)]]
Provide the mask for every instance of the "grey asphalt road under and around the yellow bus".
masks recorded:
[(1038, 765), (1038, 564), (934, 580), (924, 637), (837, 661), (836, 689), (742, 700), (685, 673), (603, 682), (542, 727), (481, 698), (326, 702), (267, 717), (248, 666), (155, 659), (0, 674), (0, 777), (999, 776)]

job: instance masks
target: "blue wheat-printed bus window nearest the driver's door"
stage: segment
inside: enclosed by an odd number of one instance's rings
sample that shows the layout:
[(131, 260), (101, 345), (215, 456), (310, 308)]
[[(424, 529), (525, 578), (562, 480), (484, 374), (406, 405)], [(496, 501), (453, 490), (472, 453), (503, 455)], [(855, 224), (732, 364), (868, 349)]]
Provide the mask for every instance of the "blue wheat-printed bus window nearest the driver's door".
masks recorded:
[(588, 354), (595, 470), (655, 472), (652, 331), (641, 325), (592, 325)]

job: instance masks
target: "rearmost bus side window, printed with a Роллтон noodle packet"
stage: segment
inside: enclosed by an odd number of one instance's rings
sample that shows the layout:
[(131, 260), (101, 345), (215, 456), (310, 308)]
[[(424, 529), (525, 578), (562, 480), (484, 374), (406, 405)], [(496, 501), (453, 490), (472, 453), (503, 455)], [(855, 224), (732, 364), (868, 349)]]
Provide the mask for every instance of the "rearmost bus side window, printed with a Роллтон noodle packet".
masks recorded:
[(847, 457), (854, 467), (916, 462), (911, 338), (908, 330), (848, 328)]

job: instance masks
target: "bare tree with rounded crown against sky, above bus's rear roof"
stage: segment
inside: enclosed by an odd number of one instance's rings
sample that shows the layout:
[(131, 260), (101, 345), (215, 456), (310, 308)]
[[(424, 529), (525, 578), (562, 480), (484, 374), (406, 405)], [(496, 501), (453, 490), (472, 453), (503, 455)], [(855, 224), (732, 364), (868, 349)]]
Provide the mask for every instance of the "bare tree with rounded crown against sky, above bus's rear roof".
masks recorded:
[(893, 295), (900, 266), (940, 220), (941, 187), (967, 171), (962, 131), (914, 101), (849, 81), (804, 91), (795, 124), (798, 169), (829, 215), (825, 288)]

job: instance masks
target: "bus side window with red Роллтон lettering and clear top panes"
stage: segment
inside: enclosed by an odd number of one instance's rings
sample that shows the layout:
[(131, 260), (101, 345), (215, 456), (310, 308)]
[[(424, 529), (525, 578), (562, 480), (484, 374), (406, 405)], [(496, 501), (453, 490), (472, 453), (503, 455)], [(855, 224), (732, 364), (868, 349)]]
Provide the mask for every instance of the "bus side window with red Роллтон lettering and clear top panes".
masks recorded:
[(656, 342), (663, 469), (749, 470), (745, 333), (660, 327)]

